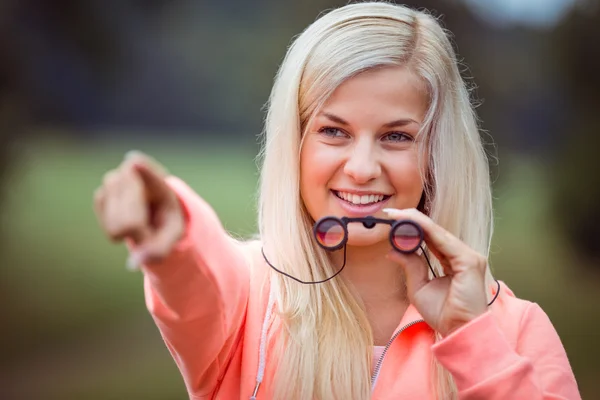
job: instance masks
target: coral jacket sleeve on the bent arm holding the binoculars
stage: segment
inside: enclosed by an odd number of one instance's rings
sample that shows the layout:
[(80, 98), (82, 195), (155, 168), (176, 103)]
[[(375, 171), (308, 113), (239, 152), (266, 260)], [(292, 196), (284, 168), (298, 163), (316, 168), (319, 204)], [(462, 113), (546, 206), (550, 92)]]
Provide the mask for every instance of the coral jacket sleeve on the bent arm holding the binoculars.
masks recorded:
[(488, 311), (436, 343), (433, 353), (461, 400), (581, 399), (560, 338), (535, 303), (523, 314), (516, 348)]

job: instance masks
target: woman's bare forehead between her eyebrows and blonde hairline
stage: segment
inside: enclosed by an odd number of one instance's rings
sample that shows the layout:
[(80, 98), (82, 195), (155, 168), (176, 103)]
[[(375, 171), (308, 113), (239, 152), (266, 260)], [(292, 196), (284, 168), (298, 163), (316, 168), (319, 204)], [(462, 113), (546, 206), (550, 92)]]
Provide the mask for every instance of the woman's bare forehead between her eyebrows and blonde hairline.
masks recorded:
[(412, 118), (422, 121), (427, 113), (426, 85), (404, 67), (382, 67), (362, 72), (342, 83), (325, 102), (323, 110), (347, 118)]

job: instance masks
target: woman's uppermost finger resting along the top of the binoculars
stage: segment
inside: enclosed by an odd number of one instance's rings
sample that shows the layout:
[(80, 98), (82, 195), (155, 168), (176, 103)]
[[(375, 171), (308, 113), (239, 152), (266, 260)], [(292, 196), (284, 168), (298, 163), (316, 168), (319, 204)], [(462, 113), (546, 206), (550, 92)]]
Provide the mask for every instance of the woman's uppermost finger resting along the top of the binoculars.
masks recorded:
[[(436, 257), (439, 255), (441, 258), (453, 260), (465, 254), (465, 252), (471, 251), (460, 239), (417, 209), (398, 210), (387, 208), (384, 211), (394, 219), (408, 219), (419, 224), (425, 233), (427, 246), (434, 252)], [(438, 257), (438, 259), (441, 258)]]

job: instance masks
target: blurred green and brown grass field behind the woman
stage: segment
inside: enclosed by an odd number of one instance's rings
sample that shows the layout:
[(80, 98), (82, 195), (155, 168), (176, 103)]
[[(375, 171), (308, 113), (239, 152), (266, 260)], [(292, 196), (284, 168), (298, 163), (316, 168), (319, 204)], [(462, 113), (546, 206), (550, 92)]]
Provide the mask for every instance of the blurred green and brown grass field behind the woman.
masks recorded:
[[(92, 193), (125, 151), (70, 141), (26, 148), (7, 190), (0, 255), (3, 399), (184, 399), (183, 383), (143, 304), (141, 276), (96, 227)], [(255, 232), (255, 149), (147, 143), (239, 235)], [(536, 301), (561, 335), (584, 398), (597, 398), (598, 277), (565, 246), (544, 168), (504, 161), (495, 187), (492, 265)], [(590, 346), (590, 343), (594, 345)], [(5, 392), (2, 395), (3, 391)]]

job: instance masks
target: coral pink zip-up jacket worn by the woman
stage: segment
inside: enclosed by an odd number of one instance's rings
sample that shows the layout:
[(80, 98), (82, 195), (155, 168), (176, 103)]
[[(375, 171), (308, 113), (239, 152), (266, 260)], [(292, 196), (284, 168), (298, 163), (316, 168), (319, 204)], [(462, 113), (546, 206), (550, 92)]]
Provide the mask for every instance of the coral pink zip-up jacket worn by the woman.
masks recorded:
[[(267, 399), (276, 365), (260, 243), (234, 241), (198, 195), (176, 178), (169, 183), (188, 227), (164, 262), (142, 267), (148, 309), (190, 399)], [(434, 399), (432, 357), (452, 373), (461, 399), (580, 399), (548, 316), (504, 284), (486, 314), (435, 344), (409, 307), (375, 367), (372, 399)]]

